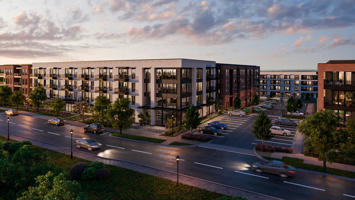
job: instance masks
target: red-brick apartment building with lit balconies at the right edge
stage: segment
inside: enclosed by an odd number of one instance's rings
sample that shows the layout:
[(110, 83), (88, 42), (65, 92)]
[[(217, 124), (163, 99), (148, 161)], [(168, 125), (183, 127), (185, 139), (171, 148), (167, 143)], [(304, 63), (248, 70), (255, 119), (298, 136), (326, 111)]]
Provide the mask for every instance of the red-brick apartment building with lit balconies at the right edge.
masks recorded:
[(355, 99), (346, 99), (344, 95), (348, 92), (355, 94), (355, 60), (318, 63), (318, 73), (318, 109), (338, 112), (342, 122), (350, 117), (354, 119)]

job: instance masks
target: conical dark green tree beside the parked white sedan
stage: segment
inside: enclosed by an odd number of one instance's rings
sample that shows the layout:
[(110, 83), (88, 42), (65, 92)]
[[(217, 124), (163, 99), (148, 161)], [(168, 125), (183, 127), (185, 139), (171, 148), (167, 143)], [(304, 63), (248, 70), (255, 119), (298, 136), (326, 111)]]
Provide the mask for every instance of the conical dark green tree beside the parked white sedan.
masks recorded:
[(262, 145), (264, 145), (264, 141), (270, 140), (274, 137), (270, 131), (270, 128), (272, 127), (271, 120), (264, 111), (261, 111), (260, 114), (256, 117), (252, 127), (253, 129), (251, 132), (254, 133), (256, 138), (261, 140)]

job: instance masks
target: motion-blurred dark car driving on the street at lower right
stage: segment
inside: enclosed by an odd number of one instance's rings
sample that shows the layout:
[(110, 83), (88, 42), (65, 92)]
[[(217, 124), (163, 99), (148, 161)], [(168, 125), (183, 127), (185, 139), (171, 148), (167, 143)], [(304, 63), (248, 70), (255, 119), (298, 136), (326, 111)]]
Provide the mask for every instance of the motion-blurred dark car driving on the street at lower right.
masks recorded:
[(282, 178), (291, 177), (295, 174), (295, 168), (284, 162), (277, 160), (269, 160), (268, 162), (255, 162), (251, 165), (251, 169), (255, 172), (267, 172), (272, 174), (278, 174)]

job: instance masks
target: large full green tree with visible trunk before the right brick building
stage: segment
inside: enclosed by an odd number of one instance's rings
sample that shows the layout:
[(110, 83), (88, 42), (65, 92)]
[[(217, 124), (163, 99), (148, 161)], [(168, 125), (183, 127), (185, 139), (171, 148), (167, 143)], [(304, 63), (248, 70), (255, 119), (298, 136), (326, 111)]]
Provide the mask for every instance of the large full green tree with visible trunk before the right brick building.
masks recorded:
[(337, 130), (340, 117), (333, 110), (319, 110), (314, 115), (308, 116), (301, 121), (297, 130), (303, 134), (318, 154), (318, 160), (323, 161), (323, 168), (326, 169), (326, 162), (335, 156), (335, 149), (342, 142), (344, 132)]

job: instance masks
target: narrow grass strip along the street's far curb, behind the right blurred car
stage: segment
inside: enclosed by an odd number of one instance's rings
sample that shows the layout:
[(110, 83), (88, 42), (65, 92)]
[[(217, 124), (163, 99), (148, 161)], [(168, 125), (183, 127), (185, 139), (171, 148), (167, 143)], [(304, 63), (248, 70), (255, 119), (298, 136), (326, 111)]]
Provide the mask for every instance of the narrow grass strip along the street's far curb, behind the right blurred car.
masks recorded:
[(333, 175), (338, 175), (342, 177), (348, 177), (348, 178), (355, 178), (355, 172), (350, 172), (346, 170), (341, 170), (341, 169), (334, 169), (327, 167), (327, 169), (323, 169), (323, 166), (318, 166), (318, 165), (312, 165), (312, 164), (305, 164), (303, 163), (303, 159), (299, 158), (291, 158), (291, 157), (282, 157), (282, 159), (277, 159), (277, 158), (271, 158), (271, 157), (266, 157), (262, 156), (265, 159), (268, 160), (279, 160), (282, 161), (286, 164), (291, 165), (292, 167), (300, 168), (300, 169), (307, 169), (307, 170), (312, 170), (316, 172), (323, 172), (327, 174), (333, 174)]

